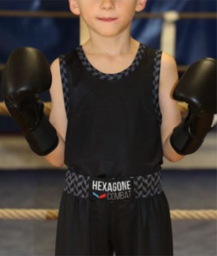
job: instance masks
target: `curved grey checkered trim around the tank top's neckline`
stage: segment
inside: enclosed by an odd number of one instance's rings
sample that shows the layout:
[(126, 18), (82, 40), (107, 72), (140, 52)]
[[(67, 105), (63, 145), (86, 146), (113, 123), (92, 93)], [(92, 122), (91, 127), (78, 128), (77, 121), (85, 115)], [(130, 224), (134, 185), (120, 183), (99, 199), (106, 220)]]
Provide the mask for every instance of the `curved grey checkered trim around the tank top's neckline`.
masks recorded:
[(77, 50), (77, 53), (79, 55), (79, 58), (80, 58), (82, 64), (85, 66), (86, 70), (88, 70), (90, 73), (92, 73), (93, 76), (98, 76), (99, 79), (102, 79), (102, 80), (103, 79), (119, 80), (119, 79), (122, 79), (123, 76), (128, 76), (128, 74), (133, 72), (135, 70), (136, 66), (138, 66), (139, 61), (141, 60), (142, 55), (145, 51), (145, 44), (140, 43), (140, 45), (138, 47), (138, 51), (136, 53), (136, 56), (135, 56), (133, 62), (131, 63), (131, 65), (128, 66), (127, 69), (125, 69), (121, 72), (115, 73), (115, 74), (106, 74), (106, 73), (102, 73), (99, 70), (95, 69), (95, 67), (91, 65), (91, 63), (85, 56), (82, 45), (80, 45), (79, 47), (76, 47), (76, 50)]

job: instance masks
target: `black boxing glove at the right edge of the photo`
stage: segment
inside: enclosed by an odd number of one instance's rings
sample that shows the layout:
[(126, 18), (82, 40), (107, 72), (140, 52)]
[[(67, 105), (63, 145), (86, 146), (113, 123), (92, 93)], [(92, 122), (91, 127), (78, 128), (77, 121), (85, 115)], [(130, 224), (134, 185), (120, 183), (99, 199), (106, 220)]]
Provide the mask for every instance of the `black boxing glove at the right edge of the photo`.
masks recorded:
[(217, 123), (217, 61), (204, 58), (194, 62), (176, 85), (174, 100), (188, 103), (186, 118), (170, 136), (180, 155), (194, 153)]

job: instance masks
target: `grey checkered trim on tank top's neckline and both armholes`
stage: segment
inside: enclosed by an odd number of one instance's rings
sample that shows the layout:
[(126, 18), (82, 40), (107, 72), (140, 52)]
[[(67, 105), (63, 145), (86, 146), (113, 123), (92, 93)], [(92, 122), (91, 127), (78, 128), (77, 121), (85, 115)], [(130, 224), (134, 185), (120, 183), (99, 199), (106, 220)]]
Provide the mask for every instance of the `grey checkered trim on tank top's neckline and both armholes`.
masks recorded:
[[(135, 70), (135, 65), (138, 65), (139, 63), (139, 59), (141, 59), (142, 54), (145, 51), (145, 45), (144, 44), (140, 44), (140, 50), (138, 50), (137, 53), (137, 57), (135, 57), (135, 64), (132, 63), (131, 66), (134, 66), (134, 68), (132, 67), (132, 69), (130, 67), (128, 67), (129, 70), (133, 71)], [(82, 56), (82, 58), (84, 58), (84, 63), (85, 66), (88, 68), (90, 67), (90, 69), (94, 72), (94, 68), (92, 69), (91, 64), (89, 63), (89, 61), (85, 58), (85, 55), (82, 54), (82, 48), (81, 46), (77, 47), (76, 49), (78, 49), (80, 56)], [(158, 93), (159, 93), (159, 78), (160, 78), (160, 67), (161, 67), (161, 54), (162, 51), (160, 50), (155, 50), (155, 59), (154, 59), (154, 71), (153, 71), (153, 103), (154, 103), (154, 107), (155, 107), (155, 113), (156, 113), (156, 117), (158, 120), (158, 124), (159, 126), (161, 126), (162, 123), (162, 115), (161, 115), (161, 111), (160, 111), (160, 107), (159, 107), (159, 102), (158, 102)], [(68, 118), (69, 115), (69, 86), (68, 86), (68, 78), (67, 78), (67, 71), (66, 71), (66, 59), (65, 59), (65, 55), (60, 55), (59, 56), (59, 66), (60, 66), (60, 73), (61, 73), (61, 80), (62, 80), (62, 90), (63, 90), (63, 96), (64, 96), (64, 104), (65, 104), (65, 109), (66, 109), (66, 116)], [(129, 74), (129, 70), (123, 70), (120, 73), (116, 73), (116, 74), (104, 74), (102, 72), (99, 72), (99, 74), (101, 74), (102, 76), (99, 76), (99, 78), (101, 77), (101, 79), (106, 79), (108, 78), (108, 76), (111, 76), (109, 78), (109, 80), (112, 79), (121, 79), (122, 76), (127, 76)], [(90, 71), (91, 71), (90, 70)], [(122, 73), (121, 76), (119, 76)], [(119, 74), (119, 75), (118, 75)], [(104, 78), (103, 75), (106, 75)]]

